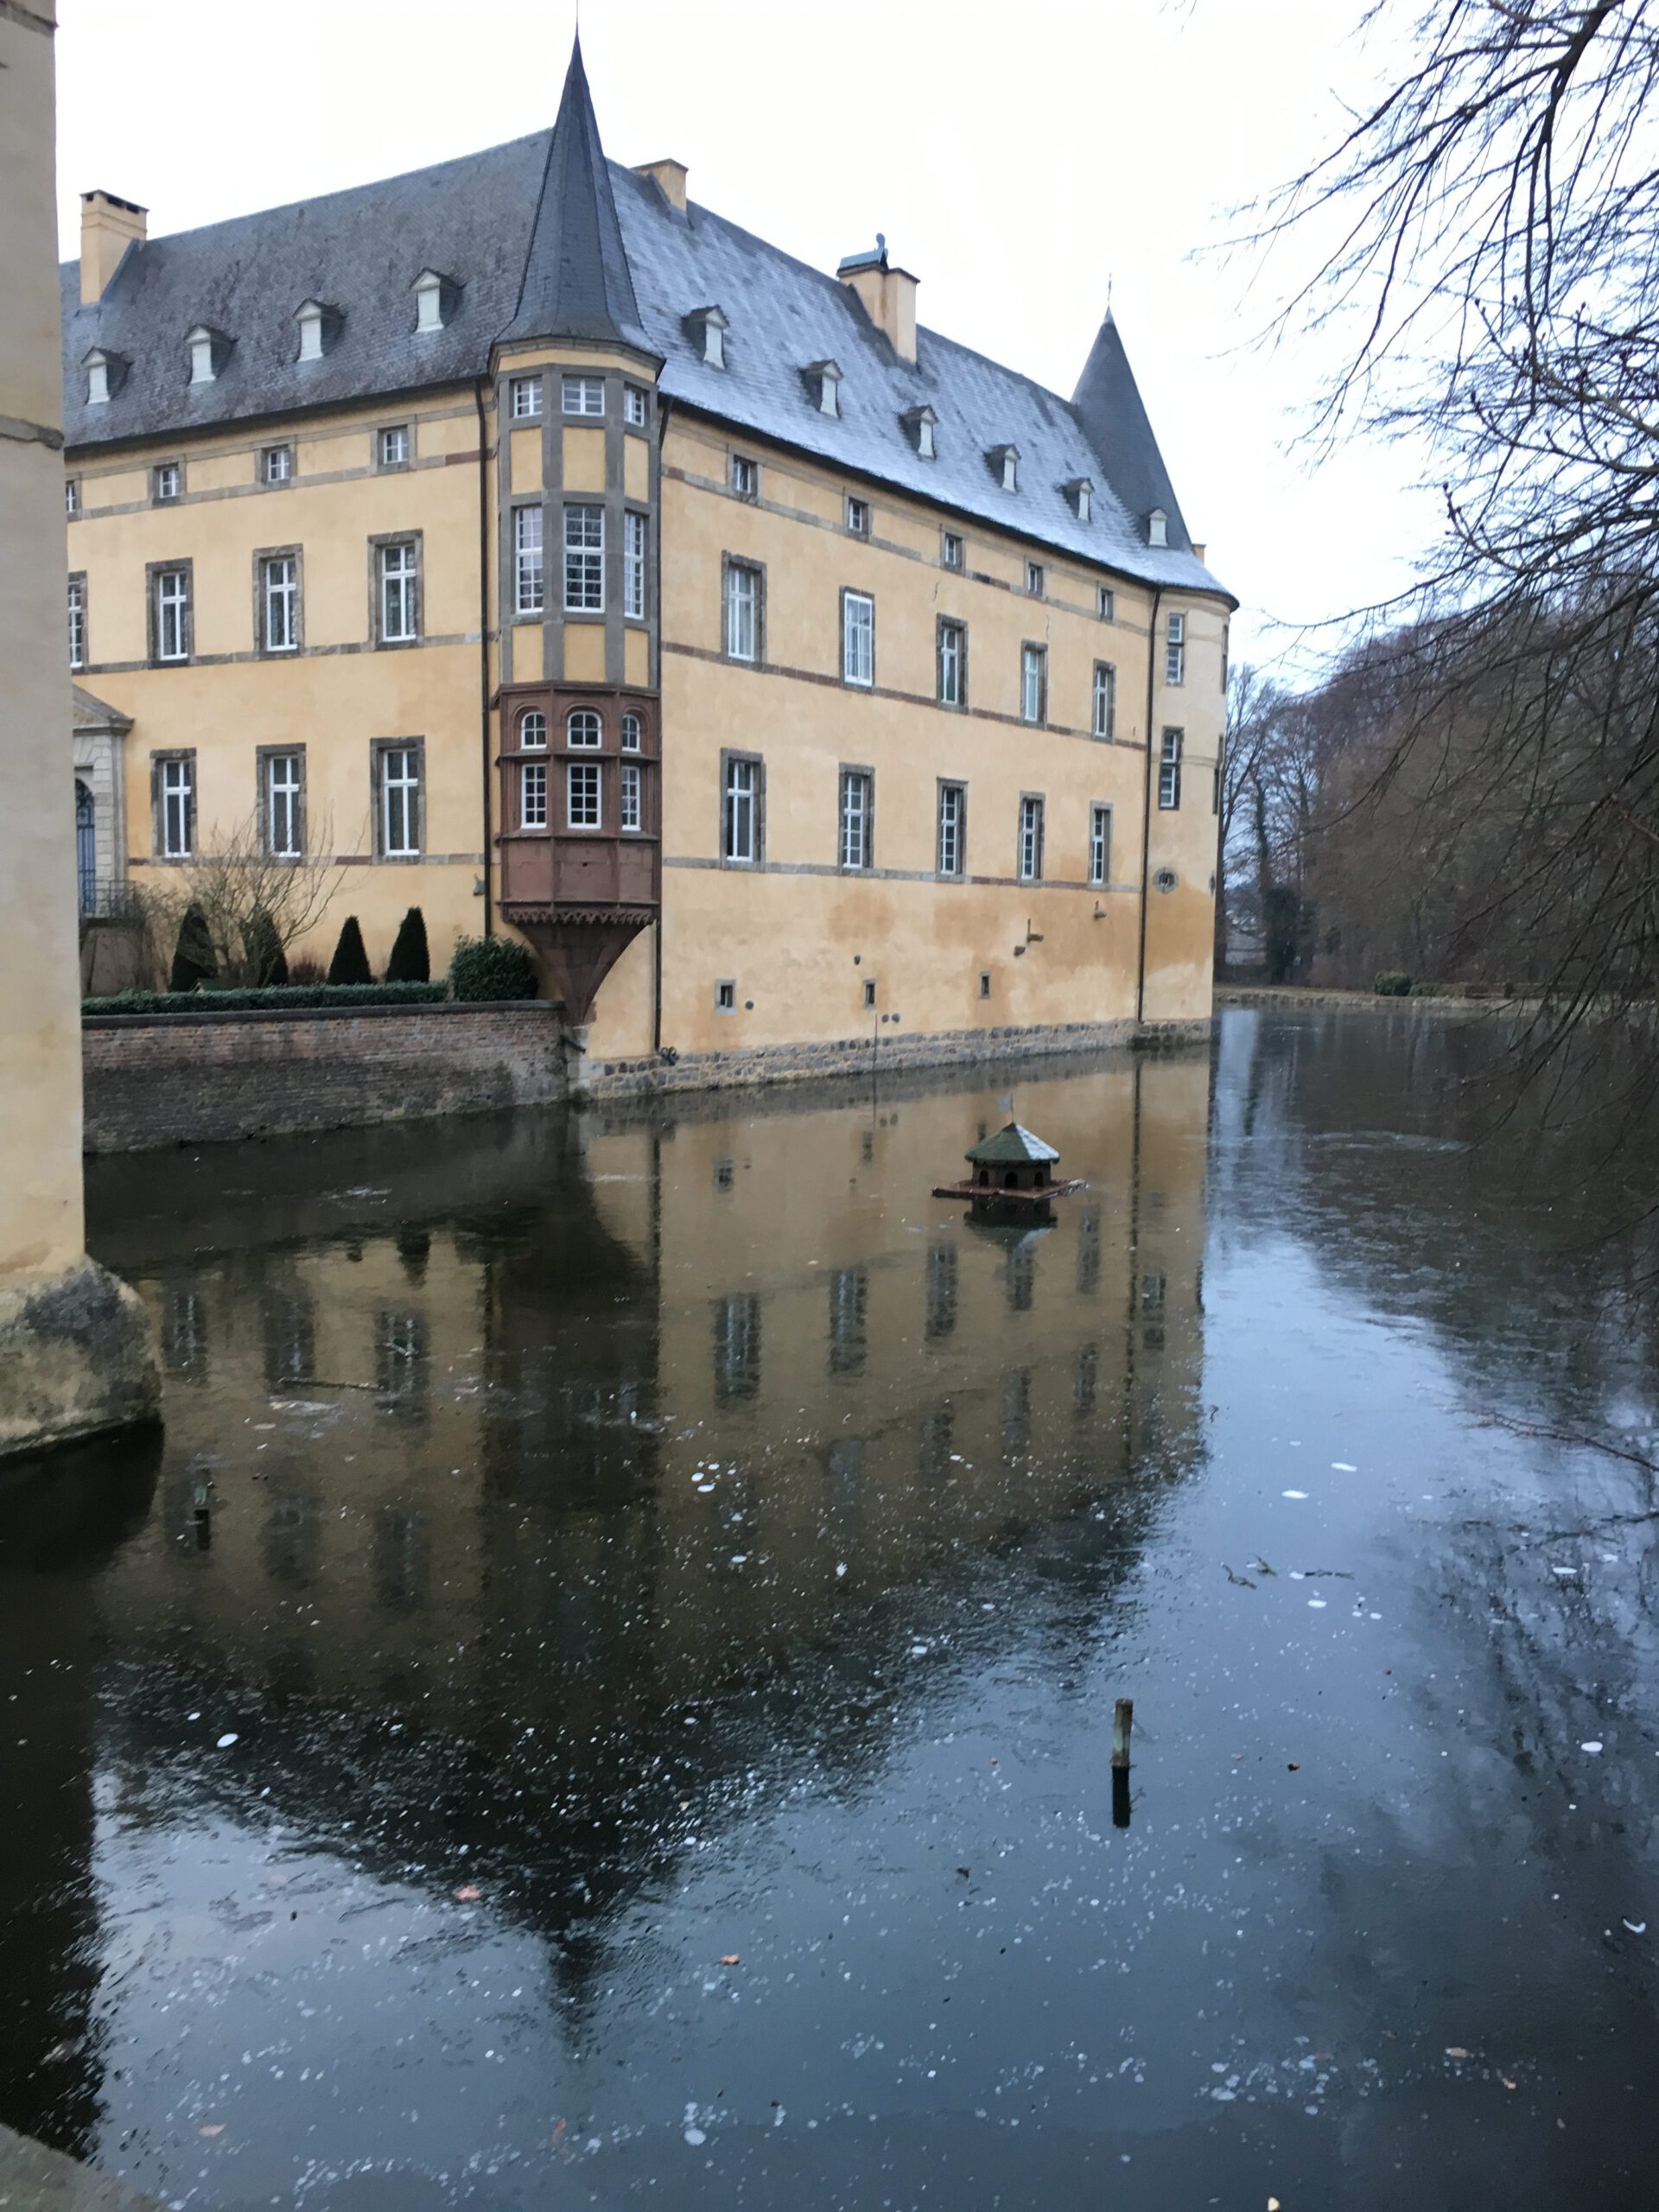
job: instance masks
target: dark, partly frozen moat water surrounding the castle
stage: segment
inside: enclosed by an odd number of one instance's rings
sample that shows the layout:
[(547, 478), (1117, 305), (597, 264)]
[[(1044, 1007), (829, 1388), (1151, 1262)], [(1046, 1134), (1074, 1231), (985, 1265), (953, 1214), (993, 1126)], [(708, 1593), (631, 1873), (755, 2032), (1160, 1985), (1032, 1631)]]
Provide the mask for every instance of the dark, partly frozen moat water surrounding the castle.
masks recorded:
[[(0, 1482), (0, 2119), (204, 2212), (1652, 2203), (1652, 1305), (1478, 1048), (95, 1164), (168, 1427)], [(1053, 1225), (929, 1194), (1011, 1113)]]

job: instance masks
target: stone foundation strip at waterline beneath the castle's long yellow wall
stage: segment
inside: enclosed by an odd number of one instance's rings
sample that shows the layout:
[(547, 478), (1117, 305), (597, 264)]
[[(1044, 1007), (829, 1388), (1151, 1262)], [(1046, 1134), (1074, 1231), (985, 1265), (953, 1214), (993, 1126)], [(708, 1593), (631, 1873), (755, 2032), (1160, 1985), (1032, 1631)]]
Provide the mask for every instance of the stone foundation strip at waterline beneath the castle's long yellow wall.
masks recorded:
[(1055, 1022), (1042, 1029), (949, 1029), (916, 1035), (841, 1037), (832, 1044), (772, 1044), (743, 1053), (681, 1053), (677, 1060), (571, 1062), (571, 1097), (622, 1099), (672, 1091), (728, 1091), (745, 1084), (801, 1084), (825, 1075), (883, 1075), (900, 1068), (964, 1068), (1051, 1053), (1097, 1053), (1188, 1044), (1208, 1022)]

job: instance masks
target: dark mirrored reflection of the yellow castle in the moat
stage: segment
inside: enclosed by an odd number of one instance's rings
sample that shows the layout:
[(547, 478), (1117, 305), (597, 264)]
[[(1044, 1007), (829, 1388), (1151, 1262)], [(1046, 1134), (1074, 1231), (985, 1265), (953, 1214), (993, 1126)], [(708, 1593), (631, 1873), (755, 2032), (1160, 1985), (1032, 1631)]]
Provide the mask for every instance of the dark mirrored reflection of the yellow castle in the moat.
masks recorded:
[[(560, 1927), (779, 1739), (878, 1761), (894, 1637), (1033, 1531), (1104, 1601), (1192, 1464), (1206, 1110), (1201, 1060), (1044, 1084), (1091, 1190), (1037, 1232), (927, 1194), (940, 1133), (998, 1119), (971, 1091), (376, 1133), (206, 1219), (155, 1192), (175, 1380), (115, 1756), (210, 1679), (285, 1818), (529, 1860)], [(816, 1666), (889, 1686), (849, 1721)]]

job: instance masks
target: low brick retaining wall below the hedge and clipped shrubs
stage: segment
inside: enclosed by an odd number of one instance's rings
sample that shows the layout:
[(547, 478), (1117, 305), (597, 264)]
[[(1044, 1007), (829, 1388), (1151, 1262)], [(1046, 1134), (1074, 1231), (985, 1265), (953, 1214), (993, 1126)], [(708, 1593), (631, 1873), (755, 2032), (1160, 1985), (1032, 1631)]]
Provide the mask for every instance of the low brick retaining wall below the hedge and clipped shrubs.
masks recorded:
[(88, 1152), (540, 1106), (566, 1093), (560, 1011), (538, 1002), (88, 1015), (82, 1066)]

